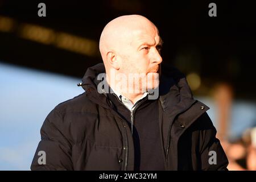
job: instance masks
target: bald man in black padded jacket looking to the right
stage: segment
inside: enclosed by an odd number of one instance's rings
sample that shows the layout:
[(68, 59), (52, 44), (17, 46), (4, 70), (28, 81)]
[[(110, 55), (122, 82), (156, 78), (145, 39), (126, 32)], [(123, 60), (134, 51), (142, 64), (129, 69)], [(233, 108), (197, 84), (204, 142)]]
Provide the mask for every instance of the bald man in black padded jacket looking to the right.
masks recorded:
[(158, 28), (126, 15), (102, 31), (103, 64), (48, 114), (32, 170), (226, 170), (206, 111), (177, 69), (161, 73)]

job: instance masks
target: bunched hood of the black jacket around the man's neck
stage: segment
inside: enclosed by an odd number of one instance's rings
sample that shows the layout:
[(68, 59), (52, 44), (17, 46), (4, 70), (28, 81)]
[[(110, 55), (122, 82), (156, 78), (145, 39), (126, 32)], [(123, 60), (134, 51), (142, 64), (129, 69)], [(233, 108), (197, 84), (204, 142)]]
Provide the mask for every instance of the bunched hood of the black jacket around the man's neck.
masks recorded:
[[(166, 66), (164, 67), (166, 68)], [(82, 88), (91, 101), (101, 106), (109, 107), (109, 102), (105, 94), (97, 92), (97, 85), (102, 81), (97, 79), (100, 73), (106, 73), (103, 63), (88, 68), (82, 78)], [(195, 102), (184, 74), (176, 68), (167, 67), (166, 72), (163, 71), (160, 76), (159, 100), (163, 110), (167, 110), (173, 106), (181, 110)]]

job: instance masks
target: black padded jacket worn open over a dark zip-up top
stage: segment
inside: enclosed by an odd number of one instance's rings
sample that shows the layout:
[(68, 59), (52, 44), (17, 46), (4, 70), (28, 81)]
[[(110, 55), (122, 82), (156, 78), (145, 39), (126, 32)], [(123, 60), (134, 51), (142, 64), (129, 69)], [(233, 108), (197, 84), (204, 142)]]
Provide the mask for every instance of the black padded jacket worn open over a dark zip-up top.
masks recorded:
[[(86, 92), (65, 101), (49, 113), (41, 129), (42, 140), (32, 170), (133, 170), (133, 137), (127, 123), (97, 92), (103, 64), (89, 68), (82, 79)], [(216, 139), (209, 109), (193, 100), (185, 77), (172, 69), (161, 76), (159, 126), (166, 170), (225, 170), (228, 159)], [(38, 164), (39, 151), (46, 164)], [(210, 151), (216, 164), (210, 164)], [(150, 160), (150, 159), (148, 159)], [(211, 160), (211, 159), (210, 159)]]

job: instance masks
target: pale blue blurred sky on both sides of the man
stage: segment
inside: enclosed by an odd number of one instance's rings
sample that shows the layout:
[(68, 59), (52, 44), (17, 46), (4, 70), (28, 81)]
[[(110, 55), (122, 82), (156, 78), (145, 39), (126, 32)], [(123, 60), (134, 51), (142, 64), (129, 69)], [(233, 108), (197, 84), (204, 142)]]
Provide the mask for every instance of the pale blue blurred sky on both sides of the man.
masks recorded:
[[(81, 78), (0, 63), (0, 170), (30, 170), (44, 119), (57, 104), (84, 92), (78, 82)], [(210, 107), (216, 125), (214, 102), (197, 99)], [(234, 102), (230, 135), (256, 123), (255, 110), (255, 104)]]

